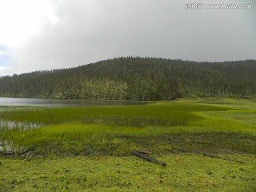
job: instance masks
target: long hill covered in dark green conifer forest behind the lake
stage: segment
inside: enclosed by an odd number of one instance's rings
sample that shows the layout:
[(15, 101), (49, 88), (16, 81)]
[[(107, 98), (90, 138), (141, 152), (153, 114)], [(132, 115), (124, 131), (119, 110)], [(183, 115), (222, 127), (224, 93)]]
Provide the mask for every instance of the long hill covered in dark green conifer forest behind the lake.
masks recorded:
[(256, 60), (197, 63), (114, 58), (78, 68), (0, 78), (1, 97), (172, 100), (217, 95), (256, 97)]

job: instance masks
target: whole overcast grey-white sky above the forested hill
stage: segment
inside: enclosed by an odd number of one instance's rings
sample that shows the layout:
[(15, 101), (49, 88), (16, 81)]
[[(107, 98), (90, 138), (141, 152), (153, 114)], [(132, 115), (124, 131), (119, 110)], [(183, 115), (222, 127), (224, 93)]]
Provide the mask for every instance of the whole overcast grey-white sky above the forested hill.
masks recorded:
[(122, 56), (256, 60), (256, 1), (0, 0), (0, 76)]

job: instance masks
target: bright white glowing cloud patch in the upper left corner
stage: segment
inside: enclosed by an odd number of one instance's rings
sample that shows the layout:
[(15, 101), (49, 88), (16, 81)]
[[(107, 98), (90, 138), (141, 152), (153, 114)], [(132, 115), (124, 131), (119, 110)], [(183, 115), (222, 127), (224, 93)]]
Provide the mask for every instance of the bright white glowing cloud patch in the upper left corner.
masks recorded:
[(0, 45), (21, 46), (46, 20), (57, 21), (50, 0), (0, 0)]

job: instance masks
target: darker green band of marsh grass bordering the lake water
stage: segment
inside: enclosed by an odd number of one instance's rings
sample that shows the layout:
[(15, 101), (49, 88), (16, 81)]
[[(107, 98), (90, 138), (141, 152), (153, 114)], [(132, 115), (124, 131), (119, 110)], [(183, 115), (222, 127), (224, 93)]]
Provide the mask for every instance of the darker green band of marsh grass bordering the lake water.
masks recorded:
[[(198, 117), (195, 111), (225, 111), (228, 107), (190, 105), (175, 102), (159, 102), (148, 106), (113, 106), (113, 107), (14, 107), (2, 110), (2, 120), (11, 122), (29, 122), (38, 124), (59, 124), (83, 122), (86, 124), (116, 124), (124, 126), (148, 125), (184, 125)], [(51, 117), (50, 117), (51, 116)], [(53, 120), (52, 120), (53, 119)]]

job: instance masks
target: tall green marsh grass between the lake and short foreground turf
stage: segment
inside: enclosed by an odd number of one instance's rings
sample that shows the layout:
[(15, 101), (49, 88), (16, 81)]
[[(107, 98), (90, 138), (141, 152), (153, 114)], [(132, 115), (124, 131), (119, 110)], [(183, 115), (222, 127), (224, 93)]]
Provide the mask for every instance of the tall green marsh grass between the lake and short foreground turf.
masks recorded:
[[(50, 109), (14, 107), (1, 110), (2, 121), (36, 123), (41, 127), (1, 126), (0, 140), (8, 141), (9, 148), (16, 153), (35, 148), (33, 153), (40, 155), (130, 154), (134, 149), (166, 152), (171, 151), (172, 145), (196, 151), (216, 152), (223, 148), (226, 152), (255, 153), (255, 112), (250, 110), (247, 118), (252, 124), (245, 123), (246, 114), (237, 119), (237, 112), (247, 111), (235, 109), (233, 105), (228, 107), (227, 103), (215, 106), (206, 102)], [(240, 136), (244, 139), (239, 139)]]

